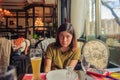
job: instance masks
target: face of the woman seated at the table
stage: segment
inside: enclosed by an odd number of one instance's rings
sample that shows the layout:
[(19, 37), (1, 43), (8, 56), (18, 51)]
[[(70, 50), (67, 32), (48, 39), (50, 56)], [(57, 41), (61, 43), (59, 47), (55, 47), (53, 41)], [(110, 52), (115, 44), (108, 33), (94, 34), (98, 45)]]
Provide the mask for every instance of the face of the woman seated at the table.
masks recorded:
[(62, 47), (68, 47), (72, 41), (73, 36), (67, 31), (60, 32), (59, 40)]

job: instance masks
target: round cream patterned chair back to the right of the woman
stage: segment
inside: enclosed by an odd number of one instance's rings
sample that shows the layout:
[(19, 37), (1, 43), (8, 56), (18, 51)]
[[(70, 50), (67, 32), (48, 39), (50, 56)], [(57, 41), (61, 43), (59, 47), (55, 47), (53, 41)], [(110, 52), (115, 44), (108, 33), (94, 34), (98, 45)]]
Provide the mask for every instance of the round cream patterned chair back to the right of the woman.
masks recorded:
[(87, 41), (82, 48), (82, 57), (95, 68), (106, 68), (109, 59), (108, 46), (97, 39)]

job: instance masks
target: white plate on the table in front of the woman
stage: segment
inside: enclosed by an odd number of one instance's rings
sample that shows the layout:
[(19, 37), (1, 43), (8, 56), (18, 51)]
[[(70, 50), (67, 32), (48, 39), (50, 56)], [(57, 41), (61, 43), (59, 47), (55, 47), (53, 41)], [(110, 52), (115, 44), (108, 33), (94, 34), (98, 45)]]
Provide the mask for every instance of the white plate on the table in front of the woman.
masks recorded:
[[(49, 71), (46, 78), (47, 80), (66, 80), (66, 72), (65, 69)], [(71, 80), (76, 80), (78, 78), (77, 73), (73, 72), (72, 78)]]

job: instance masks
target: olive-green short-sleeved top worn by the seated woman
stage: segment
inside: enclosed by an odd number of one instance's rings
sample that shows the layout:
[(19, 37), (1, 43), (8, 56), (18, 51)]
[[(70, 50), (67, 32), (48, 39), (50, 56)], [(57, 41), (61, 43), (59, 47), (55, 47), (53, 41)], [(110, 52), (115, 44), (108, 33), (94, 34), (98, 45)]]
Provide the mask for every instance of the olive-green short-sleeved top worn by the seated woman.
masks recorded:
[(63, 53), (60, 48), (55, 47), (54, 44), (50, 44), (47, 48), (45, 57), (52, 60), (52, 70), (65, 69), (71, 60), (80, 59), (80, 48), (77, 48), (75, 51), (69, 50)]

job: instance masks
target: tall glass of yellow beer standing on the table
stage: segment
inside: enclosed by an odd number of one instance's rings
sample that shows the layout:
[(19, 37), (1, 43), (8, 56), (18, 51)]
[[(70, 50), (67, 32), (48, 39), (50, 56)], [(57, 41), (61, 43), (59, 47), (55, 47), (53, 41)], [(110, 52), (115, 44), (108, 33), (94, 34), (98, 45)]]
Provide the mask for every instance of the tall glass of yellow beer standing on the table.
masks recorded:
[(32, 64), (32, 80), (41, 80), (40, 69), (42, 62), (42, 53), (39, 49), (30, 49), (30, 59)]

